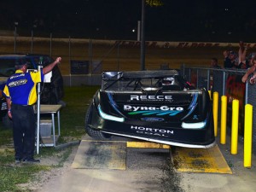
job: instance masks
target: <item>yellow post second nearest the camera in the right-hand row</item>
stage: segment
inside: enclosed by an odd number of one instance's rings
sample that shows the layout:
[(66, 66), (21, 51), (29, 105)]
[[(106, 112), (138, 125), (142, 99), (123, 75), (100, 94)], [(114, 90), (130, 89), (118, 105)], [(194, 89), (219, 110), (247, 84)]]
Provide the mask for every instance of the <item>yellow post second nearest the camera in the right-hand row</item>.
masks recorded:
[(237, 154), (239, 101), (232, 102), (231, 154)]

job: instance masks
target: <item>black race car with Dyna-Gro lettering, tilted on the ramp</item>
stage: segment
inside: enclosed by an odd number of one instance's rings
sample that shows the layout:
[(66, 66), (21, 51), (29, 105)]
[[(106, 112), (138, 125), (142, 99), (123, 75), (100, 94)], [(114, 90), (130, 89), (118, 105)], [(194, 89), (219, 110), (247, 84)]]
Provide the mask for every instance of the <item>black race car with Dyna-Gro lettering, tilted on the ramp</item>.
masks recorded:
[(186, 148), (215, 144), (212, 103), (176, 70), (103, 72), (85, 116), (90, 137), (112, 135)]

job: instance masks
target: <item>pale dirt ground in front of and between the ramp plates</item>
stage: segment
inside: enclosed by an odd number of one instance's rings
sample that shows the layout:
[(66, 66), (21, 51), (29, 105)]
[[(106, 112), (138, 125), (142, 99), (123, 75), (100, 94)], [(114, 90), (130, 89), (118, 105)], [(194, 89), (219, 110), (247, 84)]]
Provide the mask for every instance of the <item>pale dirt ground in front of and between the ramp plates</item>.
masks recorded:
[[(225, 145), (218, 146), (233, 174), (177, 172), (170, 163), (170, 154), (166, 149), (144, 148), (129, 149), (126, 170), (73, 169), (73, 160), (79, 147), (75, 146), (63, 167), (42, 172), (35, 177), (35, 181), (23, 187), (36, 192), (255, 191), (255, 156), (252, 167), (248, 169), (243, 167), (241, 145), (236, 155), (230, 154), (230, 138)], [(56, 158), (42, 159), (41, 163), (49, 165), (57, 161)]]

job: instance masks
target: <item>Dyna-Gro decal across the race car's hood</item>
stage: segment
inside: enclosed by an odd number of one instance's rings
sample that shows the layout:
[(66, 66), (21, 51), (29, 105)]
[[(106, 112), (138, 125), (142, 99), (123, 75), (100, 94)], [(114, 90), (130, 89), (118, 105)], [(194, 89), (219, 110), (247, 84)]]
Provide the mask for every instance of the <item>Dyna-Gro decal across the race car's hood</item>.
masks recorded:
[(170, 115), (174, 116), (177, 113), (183, 112), (182, 107), (168, 107), (168, 106), (160, 106), (159, 108), (157, 107), (137, 107), (137, 106), (131, 106), (131, 105), (124, 105), (124, 110), (125, 111), (130, 111), (128, 114), (135, 115), (135, 114), (142, 114), (142, 115)]

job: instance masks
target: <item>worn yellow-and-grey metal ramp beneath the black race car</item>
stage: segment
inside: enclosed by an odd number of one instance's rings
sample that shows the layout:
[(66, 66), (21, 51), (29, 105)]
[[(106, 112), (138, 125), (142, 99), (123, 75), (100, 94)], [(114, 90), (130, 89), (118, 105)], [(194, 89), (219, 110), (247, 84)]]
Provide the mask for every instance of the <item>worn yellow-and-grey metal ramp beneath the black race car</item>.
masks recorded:
[(73, 161), (74, 169), (125, 170), (127, 148), (166, 148), (177, 172), (232, 174), (218, 145), (213, 148), (171, 148), (169, 145), (134, 141), (82, 140)]

